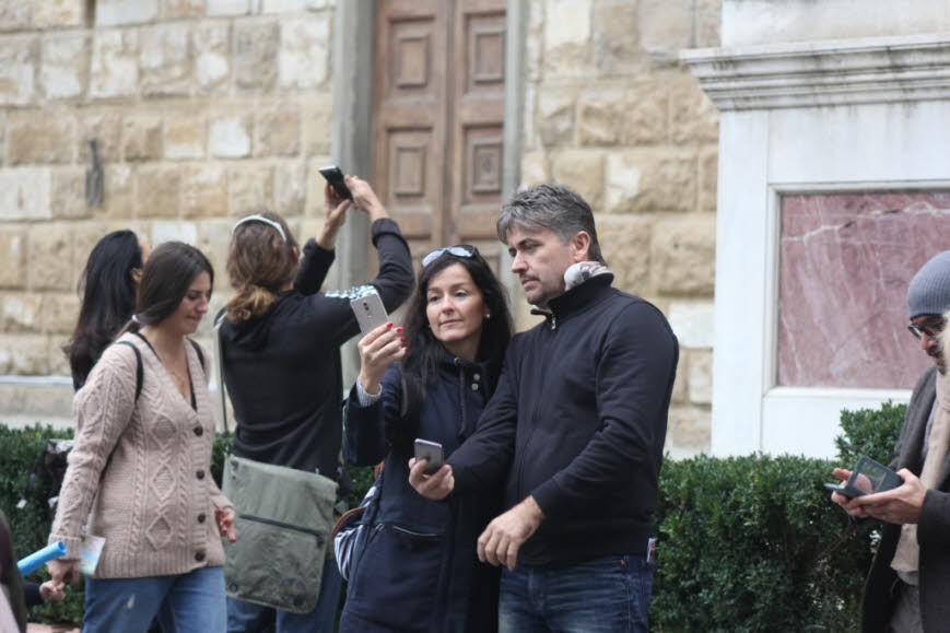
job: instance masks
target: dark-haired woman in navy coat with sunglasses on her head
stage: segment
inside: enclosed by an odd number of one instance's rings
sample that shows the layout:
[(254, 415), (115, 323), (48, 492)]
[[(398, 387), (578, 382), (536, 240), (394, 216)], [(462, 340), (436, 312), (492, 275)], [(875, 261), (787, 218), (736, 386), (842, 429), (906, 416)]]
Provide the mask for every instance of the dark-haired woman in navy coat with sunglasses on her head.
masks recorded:
[(450, 455), (471, 433), (512, 336), (505, 294), (473, 246), (422, 260), (406, 329), (386, 324), (359, 343), (360, 376), (345, 405), (345, 455), (386, 459), (370, 537), (351, 570), (340, 631), (493, 631), (497, 570), (476, 539), (501, 491), (433, 502), (409, 485), (415, 438)]

